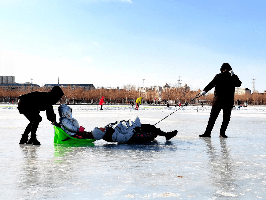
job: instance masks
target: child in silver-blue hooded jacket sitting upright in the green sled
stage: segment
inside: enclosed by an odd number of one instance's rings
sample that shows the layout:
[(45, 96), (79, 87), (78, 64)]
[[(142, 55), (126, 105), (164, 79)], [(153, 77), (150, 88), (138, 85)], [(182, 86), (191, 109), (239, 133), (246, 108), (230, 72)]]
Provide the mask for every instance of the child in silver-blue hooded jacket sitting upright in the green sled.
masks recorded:
[(72, 118), (72, 109), (69, 106), (65, 104), (60, 105), (58, 107), (58, 113), (60, 116), (59, 124), (61, 129), (68, 135), (80, 139), (93, 139), (92, 133), (84, 131), (84, 127), (79, 126), (78, 121)]

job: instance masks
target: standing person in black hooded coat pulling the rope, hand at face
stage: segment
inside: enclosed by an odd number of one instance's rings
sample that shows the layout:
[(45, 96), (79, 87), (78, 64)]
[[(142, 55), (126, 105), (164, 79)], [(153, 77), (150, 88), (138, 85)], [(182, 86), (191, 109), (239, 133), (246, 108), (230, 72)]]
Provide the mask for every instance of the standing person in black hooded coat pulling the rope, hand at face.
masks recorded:
[(227, 138), (225, 131), (231, 118), (232, 106), (234, 105), (235, 87), (240, 87), (242, 82), (234, 74), (232, 67), (228, 63), (223, 63), (220, 71), (221, 73), (216, 74), (214, 79), (200, 93), (201, 95), (205, 95), (206, 92), (215, 87), (208, 125), (204, 134), (199, 135), (200, 137), (211, 137), (211, 131), (215, 121), (223, 109), (220, 137)]

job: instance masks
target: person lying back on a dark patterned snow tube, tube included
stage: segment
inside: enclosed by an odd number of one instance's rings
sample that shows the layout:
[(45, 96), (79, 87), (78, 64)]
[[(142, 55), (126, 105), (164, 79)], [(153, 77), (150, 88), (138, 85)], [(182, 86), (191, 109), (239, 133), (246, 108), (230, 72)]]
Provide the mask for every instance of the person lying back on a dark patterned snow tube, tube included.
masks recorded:
[(138, 116), (134, 115), (128, 121), (109, 123), (105, 127), (95, 127), (92, 135), (95, 140), (103, 139), (107, 142), (151, 142), (157, 135), (164, 136), (166, 140), (176, 136), (177, 130), (164, 132), (150, 124), (140, 123)]

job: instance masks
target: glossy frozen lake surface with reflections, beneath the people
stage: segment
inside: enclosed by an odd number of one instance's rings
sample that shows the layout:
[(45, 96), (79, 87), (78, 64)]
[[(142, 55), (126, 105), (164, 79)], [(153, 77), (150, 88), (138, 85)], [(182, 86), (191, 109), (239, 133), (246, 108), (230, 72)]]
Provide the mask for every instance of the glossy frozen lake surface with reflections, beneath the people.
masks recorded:
[[(54, 106), (55, 113), (58, 105)], [(139, 116), (155, 124), (178, 107), (73, 105), (85, 130)], [(53, 126), (41, 112), (40, 146), (19, 145), (28, 120), (16, 105), (0, 106), (0, 199), (266, 199), (266, 107), (234, 109), (219, 138), (222, 112), (211, 138), (205, 131), (211, 107), (183, 107), (159, 122), (178, 130), (169, 141), (143, 144), (54, 145)]]

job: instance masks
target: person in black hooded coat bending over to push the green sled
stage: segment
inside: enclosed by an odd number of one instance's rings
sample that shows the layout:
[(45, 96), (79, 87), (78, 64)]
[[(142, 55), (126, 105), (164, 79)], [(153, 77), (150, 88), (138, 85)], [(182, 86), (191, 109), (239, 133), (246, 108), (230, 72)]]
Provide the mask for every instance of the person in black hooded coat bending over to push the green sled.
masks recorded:
[[(36, 138), (36, 131), (42, 120), (40, 111), (46, 111), (47, 119), (56, 126), (56, 114), (53, 111), (53, 105), (56, 104), (63, 95), (62, 89), (59, 86), (54, 86), (49, 92), (36, 91), (19, 96), (19, 113), (25, 115), (30, 121), (22, 134), (19, 144), (41, 144)], [(29, 133), (31, 134), (28, 139)]]

